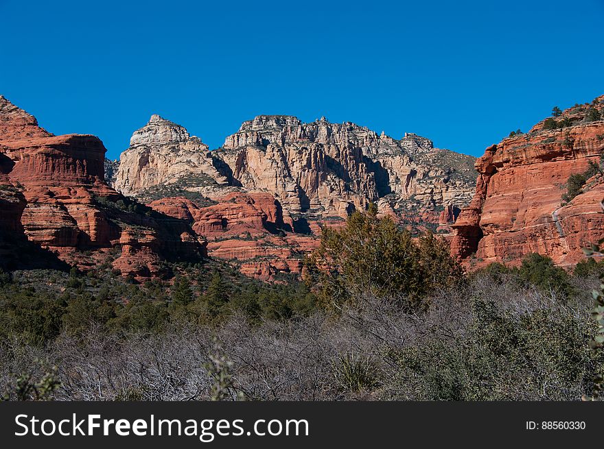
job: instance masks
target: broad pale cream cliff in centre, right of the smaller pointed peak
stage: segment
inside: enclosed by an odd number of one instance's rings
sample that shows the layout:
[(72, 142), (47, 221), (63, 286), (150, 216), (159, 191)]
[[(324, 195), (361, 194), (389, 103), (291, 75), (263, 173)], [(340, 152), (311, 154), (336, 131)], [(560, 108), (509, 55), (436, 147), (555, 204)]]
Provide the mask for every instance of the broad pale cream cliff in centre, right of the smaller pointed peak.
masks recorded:
[(474, 158), (354, 123), (259, 116), (229, 136), (216, 158), (246, 189), (270, 191), (290, 213), (347, 217), (385, 198), (397, 212), (431, 212), (472, 197)]

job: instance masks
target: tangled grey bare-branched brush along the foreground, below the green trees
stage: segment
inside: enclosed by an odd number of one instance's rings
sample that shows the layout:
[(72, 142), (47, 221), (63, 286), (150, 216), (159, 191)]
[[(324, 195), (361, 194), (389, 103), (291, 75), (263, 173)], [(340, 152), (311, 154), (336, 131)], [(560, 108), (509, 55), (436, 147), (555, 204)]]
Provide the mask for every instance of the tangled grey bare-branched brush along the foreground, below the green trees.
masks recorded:
[[(584, 290), (597, 279), (577, 282)], [(426, 311), (359, 293), (335, 317), (233, 313), (125, 335), (91, 324), (45, 346), (4, 340), (1, 393), (56, 366), (55, 400), (577, 400), (601, 365), (585, 343), (588, 293), (569, 301), (483, 273), (434, 289)]]

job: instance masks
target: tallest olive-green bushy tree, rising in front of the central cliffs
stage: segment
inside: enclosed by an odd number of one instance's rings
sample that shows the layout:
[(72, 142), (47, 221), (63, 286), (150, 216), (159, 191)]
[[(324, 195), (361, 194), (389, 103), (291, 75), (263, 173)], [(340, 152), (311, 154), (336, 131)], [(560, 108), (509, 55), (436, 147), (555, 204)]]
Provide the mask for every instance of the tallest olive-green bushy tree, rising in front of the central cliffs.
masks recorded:
[(307, 282), (332, 311), (363, 295), (421, 308), (432, 289), (463, 278), (445, 241), (428, 233), (415, 243), (389, 217), (377, 218), (375, 206), (353, 213), (341, 230), (324, 228), (320, 247), (305, 265)]

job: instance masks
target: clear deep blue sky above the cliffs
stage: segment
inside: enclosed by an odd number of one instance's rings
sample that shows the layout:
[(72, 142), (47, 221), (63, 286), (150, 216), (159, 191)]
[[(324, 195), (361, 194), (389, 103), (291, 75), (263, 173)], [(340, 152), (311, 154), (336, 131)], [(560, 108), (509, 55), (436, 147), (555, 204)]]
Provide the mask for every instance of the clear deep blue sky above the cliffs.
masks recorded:
[(604, 0), (0, 0), (0, 17), (0, 93), (111, 158), (154, 112), (211, 148), (292, 114), (479, 156), (604, 93)]

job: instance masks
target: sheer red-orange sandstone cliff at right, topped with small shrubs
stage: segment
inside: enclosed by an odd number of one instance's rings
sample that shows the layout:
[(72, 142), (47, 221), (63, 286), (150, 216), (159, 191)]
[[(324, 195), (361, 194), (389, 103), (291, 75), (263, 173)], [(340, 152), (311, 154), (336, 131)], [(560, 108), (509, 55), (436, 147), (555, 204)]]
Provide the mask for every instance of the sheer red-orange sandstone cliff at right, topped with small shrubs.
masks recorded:
[(590, 108), (604, 110), (604, 97), (566, 110), (568, 126), (505, 138), (476, 161), (476, 194), (454, 223), (452, 253), (481, 266), (518, 263), (537, 252), (560, 265), (583, 258), (583, 247), (604, 235), (600, 202), (604, 184), (594, 177), (568, 204), (562, 198), (570, 175), (588, 161), (600, 164), (604, 121), (588, 122)]

